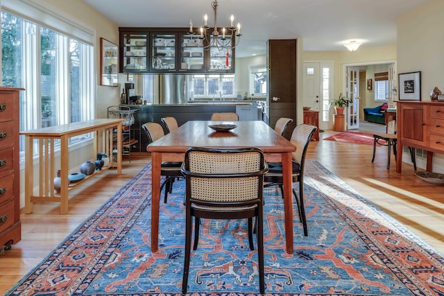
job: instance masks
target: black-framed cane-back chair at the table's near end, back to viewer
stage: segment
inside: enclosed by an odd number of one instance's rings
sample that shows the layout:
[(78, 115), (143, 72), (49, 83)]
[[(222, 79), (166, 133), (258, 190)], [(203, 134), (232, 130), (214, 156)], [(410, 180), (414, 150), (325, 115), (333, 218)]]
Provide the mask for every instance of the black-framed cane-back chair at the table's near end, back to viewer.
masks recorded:
[(198, 246), (200, 218), (248, 218), (248, 241), (253, 245), (253, 218), (257, 235), (259, 290), (264, 294), (264, 234), (262, 195), (264, 174), (268, 166), (259, 148), (189, 148), (185, 153), (182, 174), (186, 180), (185, 194), (185, 263), (182, 294), (187, 293), (191, 253), (192, 217), (194, 246)]

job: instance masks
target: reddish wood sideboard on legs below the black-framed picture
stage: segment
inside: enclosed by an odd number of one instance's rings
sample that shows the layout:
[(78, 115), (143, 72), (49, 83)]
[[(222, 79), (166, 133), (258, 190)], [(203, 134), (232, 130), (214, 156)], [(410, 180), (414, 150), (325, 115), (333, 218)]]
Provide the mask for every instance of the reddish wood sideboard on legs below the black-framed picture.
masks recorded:
[[(398, 151), (410, 146), (427, 151), (427, 171), (432, 171), (433, 153), (444, 154), (444, 103), (398, 101)], [(402, 153), (396, 159), (402, 171)]]

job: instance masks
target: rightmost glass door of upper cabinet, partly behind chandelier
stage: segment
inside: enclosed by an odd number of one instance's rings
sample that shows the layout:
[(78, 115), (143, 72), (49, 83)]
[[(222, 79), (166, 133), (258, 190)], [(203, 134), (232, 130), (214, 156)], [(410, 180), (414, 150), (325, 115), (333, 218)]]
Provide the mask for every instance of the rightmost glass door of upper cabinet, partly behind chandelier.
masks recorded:
[[(209, 66), (208, 71), (216, 71), (216, 72), (234, 72), (234, 49), (231, 49), (231, 36), (226, 36), (226, 40), (219, 40), (219, 42), (224, 42), (223, 44), (227, 45), (227, 48), (223, 48), (223, 46), (211, 46), (210, 48), (210, 57), (209, 57)], [(210, 44), (213, 43), (213, 36), (210, 36)]]

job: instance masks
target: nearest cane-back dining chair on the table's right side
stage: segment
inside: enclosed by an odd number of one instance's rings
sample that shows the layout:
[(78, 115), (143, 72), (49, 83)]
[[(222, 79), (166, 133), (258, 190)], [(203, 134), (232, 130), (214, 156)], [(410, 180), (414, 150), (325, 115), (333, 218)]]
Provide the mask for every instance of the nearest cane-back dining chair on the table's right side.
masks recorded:
[[(314, 132), (316, 132), (316, 126), (302, 123), (297, 125), (291, 134), (290, 142), (296, 146), (296, 151), (291, 153), (291, 168), (293, 183), (299, 183), (299, 197), (296, 191), (293, 189), (293, 195), (296, 198), (298, 204), (298, 213), (300, 222), (304, 227), (304, 236), (308, 236), (307, 228), (307, 218), (305, 217), (305, 204), (304, 204), (304, 168), (305, 168), (305, 155), (307, 153), (307, 147), (313, 137)], [(268, 163), (268, 173), (266, 173), (264, 182), (264, 187), (278, 185), (280, 186), (282, 197), (284, 196), (284, 191), (282, 189), (282, 184), (284, 182), (282, 173), (282, 163), (281, 162), (269, 162)]]

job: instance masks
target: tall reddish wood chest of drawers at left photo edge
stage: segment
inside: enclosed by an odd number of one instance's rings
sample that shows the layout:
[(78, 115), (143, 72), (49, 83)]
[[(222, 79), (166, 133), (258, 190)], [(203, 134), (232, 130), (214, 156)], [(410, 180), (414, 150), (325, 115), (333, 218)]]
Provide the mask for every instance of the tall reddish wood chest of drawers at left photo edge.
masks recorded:
[(0, 87), (0, 250), (22, 238), (19, 183), (19, 91)]

